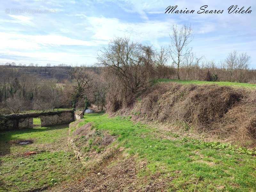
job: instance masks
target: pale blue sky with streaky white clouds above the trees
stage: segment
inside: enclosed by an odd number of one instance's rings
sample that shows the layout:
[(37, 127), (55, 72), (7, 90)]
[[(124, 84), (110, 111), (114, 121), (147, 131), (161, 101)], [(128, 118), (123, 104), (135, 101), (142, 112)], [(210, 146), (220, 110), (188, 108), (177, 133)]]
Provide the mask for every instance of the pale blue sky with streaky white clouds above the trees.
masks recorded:
[[(193, 14), (164, 14), (169, 5)], [(196, 13), (224, 10), (222, 14)], [(228, 7), (251, 6), (250, 14), (228, 14)], [(115, 37), (168, 47), (173, 25), (191, 25), (189, 44), (196, 56), (216, 63), (232, 50), (252, 57), (256, 68), (256, 1), (1, 0), (0, 63), (93, 65), (102, 47)]]

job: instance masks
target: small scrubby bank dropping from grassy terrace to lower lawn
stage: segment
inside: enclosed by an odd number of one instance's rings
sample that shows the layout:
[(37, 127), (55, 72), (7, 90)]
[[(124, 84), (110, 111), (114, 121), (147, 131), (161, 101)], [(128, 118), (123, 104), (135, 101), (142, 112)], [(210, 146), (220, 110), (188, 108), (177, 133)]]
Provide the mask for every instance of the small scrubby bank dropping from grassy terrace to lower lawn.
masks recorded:
[(115, 147), (111, 145), (114, 141), (115, 136), (93, 128), (91, 122), (84, 124), (84, 119), (69, 124), (68, 145), (88, 169), (116, 153)]

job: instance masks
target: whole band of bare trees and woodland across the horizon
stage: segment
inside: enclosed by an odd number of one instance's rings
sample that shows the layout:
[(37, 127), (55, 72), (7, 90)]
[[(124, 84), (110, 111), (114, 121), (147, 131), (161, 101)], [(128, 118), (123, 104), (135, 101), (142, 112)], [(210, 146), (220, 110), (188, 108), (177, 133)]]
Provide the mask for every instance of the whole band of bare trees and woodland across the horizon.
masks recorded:
[(94, 67), (0, 66), (0, 113), (85, 109), (90, 103), (116, 111), (130, 107), (138, 94), (160, 78), (256, 83), (256, 70), (248, 68), (249, 55), (232, 51), (217, 64), (207, 61), (189, 48), (192, 34), (190, 26), (174, 26), (170, 46), (160, 50), (115, 38), (100, 50)]

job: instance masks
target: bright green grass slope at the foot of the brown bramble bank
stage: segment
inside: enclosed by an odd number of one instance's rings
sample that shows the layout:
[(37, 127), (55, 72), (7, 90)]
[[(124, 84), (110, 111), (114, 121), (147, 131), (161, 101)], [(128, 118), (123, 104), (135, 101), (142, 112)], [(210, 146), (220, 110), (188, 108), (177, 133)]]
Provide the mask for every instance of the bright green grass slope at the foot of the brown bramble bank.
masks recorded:
[[(148, 162), (138, 176), (164, 173), (171, 177), (170, 191), (254, 191), (256, 157), (228, 149), (211, 149), (199, 142), (184, 141), (171, 132), (161, 132), (129, 118), (108, 118), (106, 114), (86, 114), (84, 122), (96, 129), (118, 135), (119, 146)], [(173, 139), (162, 139), (169, 136)], [(197, 184), (196, 184), (197, 183)]]

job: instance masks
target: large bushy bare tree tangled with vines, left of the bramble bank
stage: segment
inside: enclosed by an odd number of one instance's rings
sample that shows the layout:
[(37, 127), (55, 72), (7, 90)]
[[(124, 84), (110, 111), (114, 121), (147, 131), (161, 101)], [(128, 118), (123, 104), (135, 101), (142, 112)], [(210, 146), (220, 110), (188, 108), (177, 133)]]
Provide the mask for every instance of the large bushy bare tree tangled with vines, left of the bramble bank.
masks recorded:
[(109, 76), (115, 78), (116, 87), (112, 93), (116, 93), (119, 106), (131, 105), (134, 94), (147, 87), (149, 80), (154, 78), (153, 58), (151, 46), (133, 43), (129, 38), (116, 38), (108, 48), (102, 48), (98, 62), (108, 70)]

